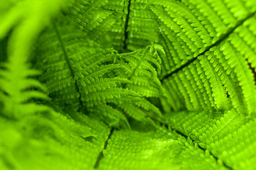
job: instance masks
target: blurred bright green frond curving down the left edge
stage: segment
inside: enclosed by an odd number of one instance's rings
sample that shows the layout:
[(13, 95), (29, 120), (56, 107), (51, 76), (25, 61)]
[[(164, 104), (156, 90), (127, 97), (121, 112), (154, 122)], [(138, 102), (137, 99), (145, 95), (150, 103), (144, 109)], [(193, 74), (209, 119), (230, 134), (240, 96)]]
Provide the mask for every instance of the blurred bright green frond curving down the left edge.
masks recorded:
[[(40, 91), (33, 90), (34, 88), (42, 89), (43, 86), (30, 78), (39, 73), (34, 69), (29, 69), (27, 62), (30, 47), (35, 38), (48, 25), (52, 16), (69, 5), (69, 1), (66, 2), (67, 4), (62, 4), (61, 1), (26, 0), (13, 3), (14, 6), (8, 6), (6, 13), (1, 13), (0, 39), (4, 38), (17, 25), (9, 40), (9, 61), (4, 64), (4, 69), (1, 72), (1, 100), (4, 103), (4, 113), (13, 114), (10, 117), (19, 118), (19, 116), (23, 117), (26, 114), (46, 110), (45, 106), (41, 107), (28, 102), (33, 98), (45, 99), (48, 97)], [(48, 8), (45, 4), (50, 4), (51, 7)], [(18, 86), (17, 81), (19, 82)], [(21, 112), (20, 115), (18, 112)]]

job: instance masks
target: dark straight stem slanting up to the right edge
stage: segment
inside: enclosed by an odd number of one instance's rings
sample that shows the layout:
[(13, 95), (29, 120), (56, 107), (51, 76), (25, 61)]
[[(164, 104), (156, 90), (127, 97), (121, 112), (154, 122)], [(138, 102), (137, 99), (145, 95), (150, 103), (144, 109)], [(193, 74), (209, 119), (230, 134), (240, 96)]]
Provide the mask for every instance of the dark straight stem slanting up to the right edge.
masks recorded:
[(200, 55), (204, 55), (206, 52), (208, 52), (208, 50), (210, 50), (211, 47), (214, 47), (214, 46), (220, 44), (221, 42), (223, 42), (223, 40), (226, 40), (226, 39), (228, 38), (228, 36), (229, 36), (231, 33), (233, 33), (236, 28), (238, 28), (239, 26), (242, 26), (243, 23), (244, 23), (245, 21), (247, 21), (249, 18), (252, 18), (252, 16), (255, 16), (255, 13), (256, 13), (256, 12), (251, 13), (251, 14), (250, 14), (249, 16), (247, 16), (245, 19), (243, 19), (242, 21), (238, 22), (238, 24), (237, 24), (235, 27), (230, 28), (230, 30), (228, 30), (228, 32), (227, 32), (225, 35), (223, 35), (220, 39), (218, 39), (218, 40), (217, 40), (216, 42), (214, 42), (212, 45), (206, 47), (206, 50), (204, 50), (204, 52), (201, 52), (199, 55), (197, 55), (196, 57), (192, 58), (192, 59), (189, 60), (187, 63), (183, 64), (181, 67), (175, 69), (173, 72), (170, 72), (169, 74), (166, 74), (164, 77), (162, 77), (162, 79), (160, 79), (160, 81), (163, 82), (165, 79), (168, 79), (169, 77), (172, 77), (172, 74), (175, 74), (175, 73), (179, 72), (180, 70), (184, 69), (184, 67), (187, 67), (189, 64), (191, 64), (192, 62), (194, 62), (194, 61), (197, 59), (197, 57), (199, 57)]

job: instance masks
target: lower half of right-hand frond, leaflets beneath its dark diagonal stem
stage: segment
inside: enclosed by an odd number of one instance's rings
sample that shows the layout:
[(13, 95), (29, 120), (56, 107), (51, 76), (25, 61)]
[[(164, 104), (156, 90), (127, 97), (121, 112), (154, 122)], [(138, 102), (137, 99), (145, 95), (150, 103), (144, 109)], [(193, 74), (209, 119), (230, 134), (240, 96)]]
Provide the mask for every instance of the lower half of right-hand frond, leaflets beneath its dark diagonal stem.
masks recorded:
[[(194, 103), (191, 98), (195, 96), (204, 98), (208, 106), (208, 101), (210, 101), (213, 110), (235, 108), (240, 114), (255, 115), (255, 99), (253, 99), (255, 97), (255, 79), (252, 73), (252, 69), (255, 69), (255, 63), (253, 62), (255, 47), (250, 45), (250, 40), (247, 39), (249, 41), (247, 43), (242, 38), (242, 35), (245, 35), (245, 31), (250, 35), (250, 38), (255, 38), (253, 32), (248, 29), (255, 27), (253, 25), (254, 20), (255, 16), (249, 18), (242, 26), (236, 28), (234, 33), (230, 33), (223, 42), (199, 55), (197, 60), (189, 64), (189, 67), (184, 67), (178, 73), (173, 74), (180, 75), (182, 72), (194, 73), (194, 80), (199, 85), (198, 88), (195, 86), (194, 91), (181, 90), (183, 100), (186, 101), (189, 111), (196, 110), (194, 106), (191, 106), (191, 103)], [(245, 47), (247, 49), (246, 52), (250, 52), (250, 55), (245, 53), (245, 50), (241, 47)], [(197, 73), (191, 71), (191, 69), (194, 69), (194, 65)], [(174, 76), (172, 77), (172, 79), (177, 79)], [(169, 79), (173, 81), (171, 78)], [(187, 79), (191, 78), (187, 76)], [(182, 81), (176, 80), (179, 83), (179, 89), (182, 88), (181, 82), (183, 86), (189, 86), (189, 83), (185, 82), (185, 80), (185, 78)], [(195, 94), (198, 90), (202, 94)], [(196, 101), (196, 99), (193, 99), (193, 101)], [(207, 108), (202, 105), (200, 109)]]

